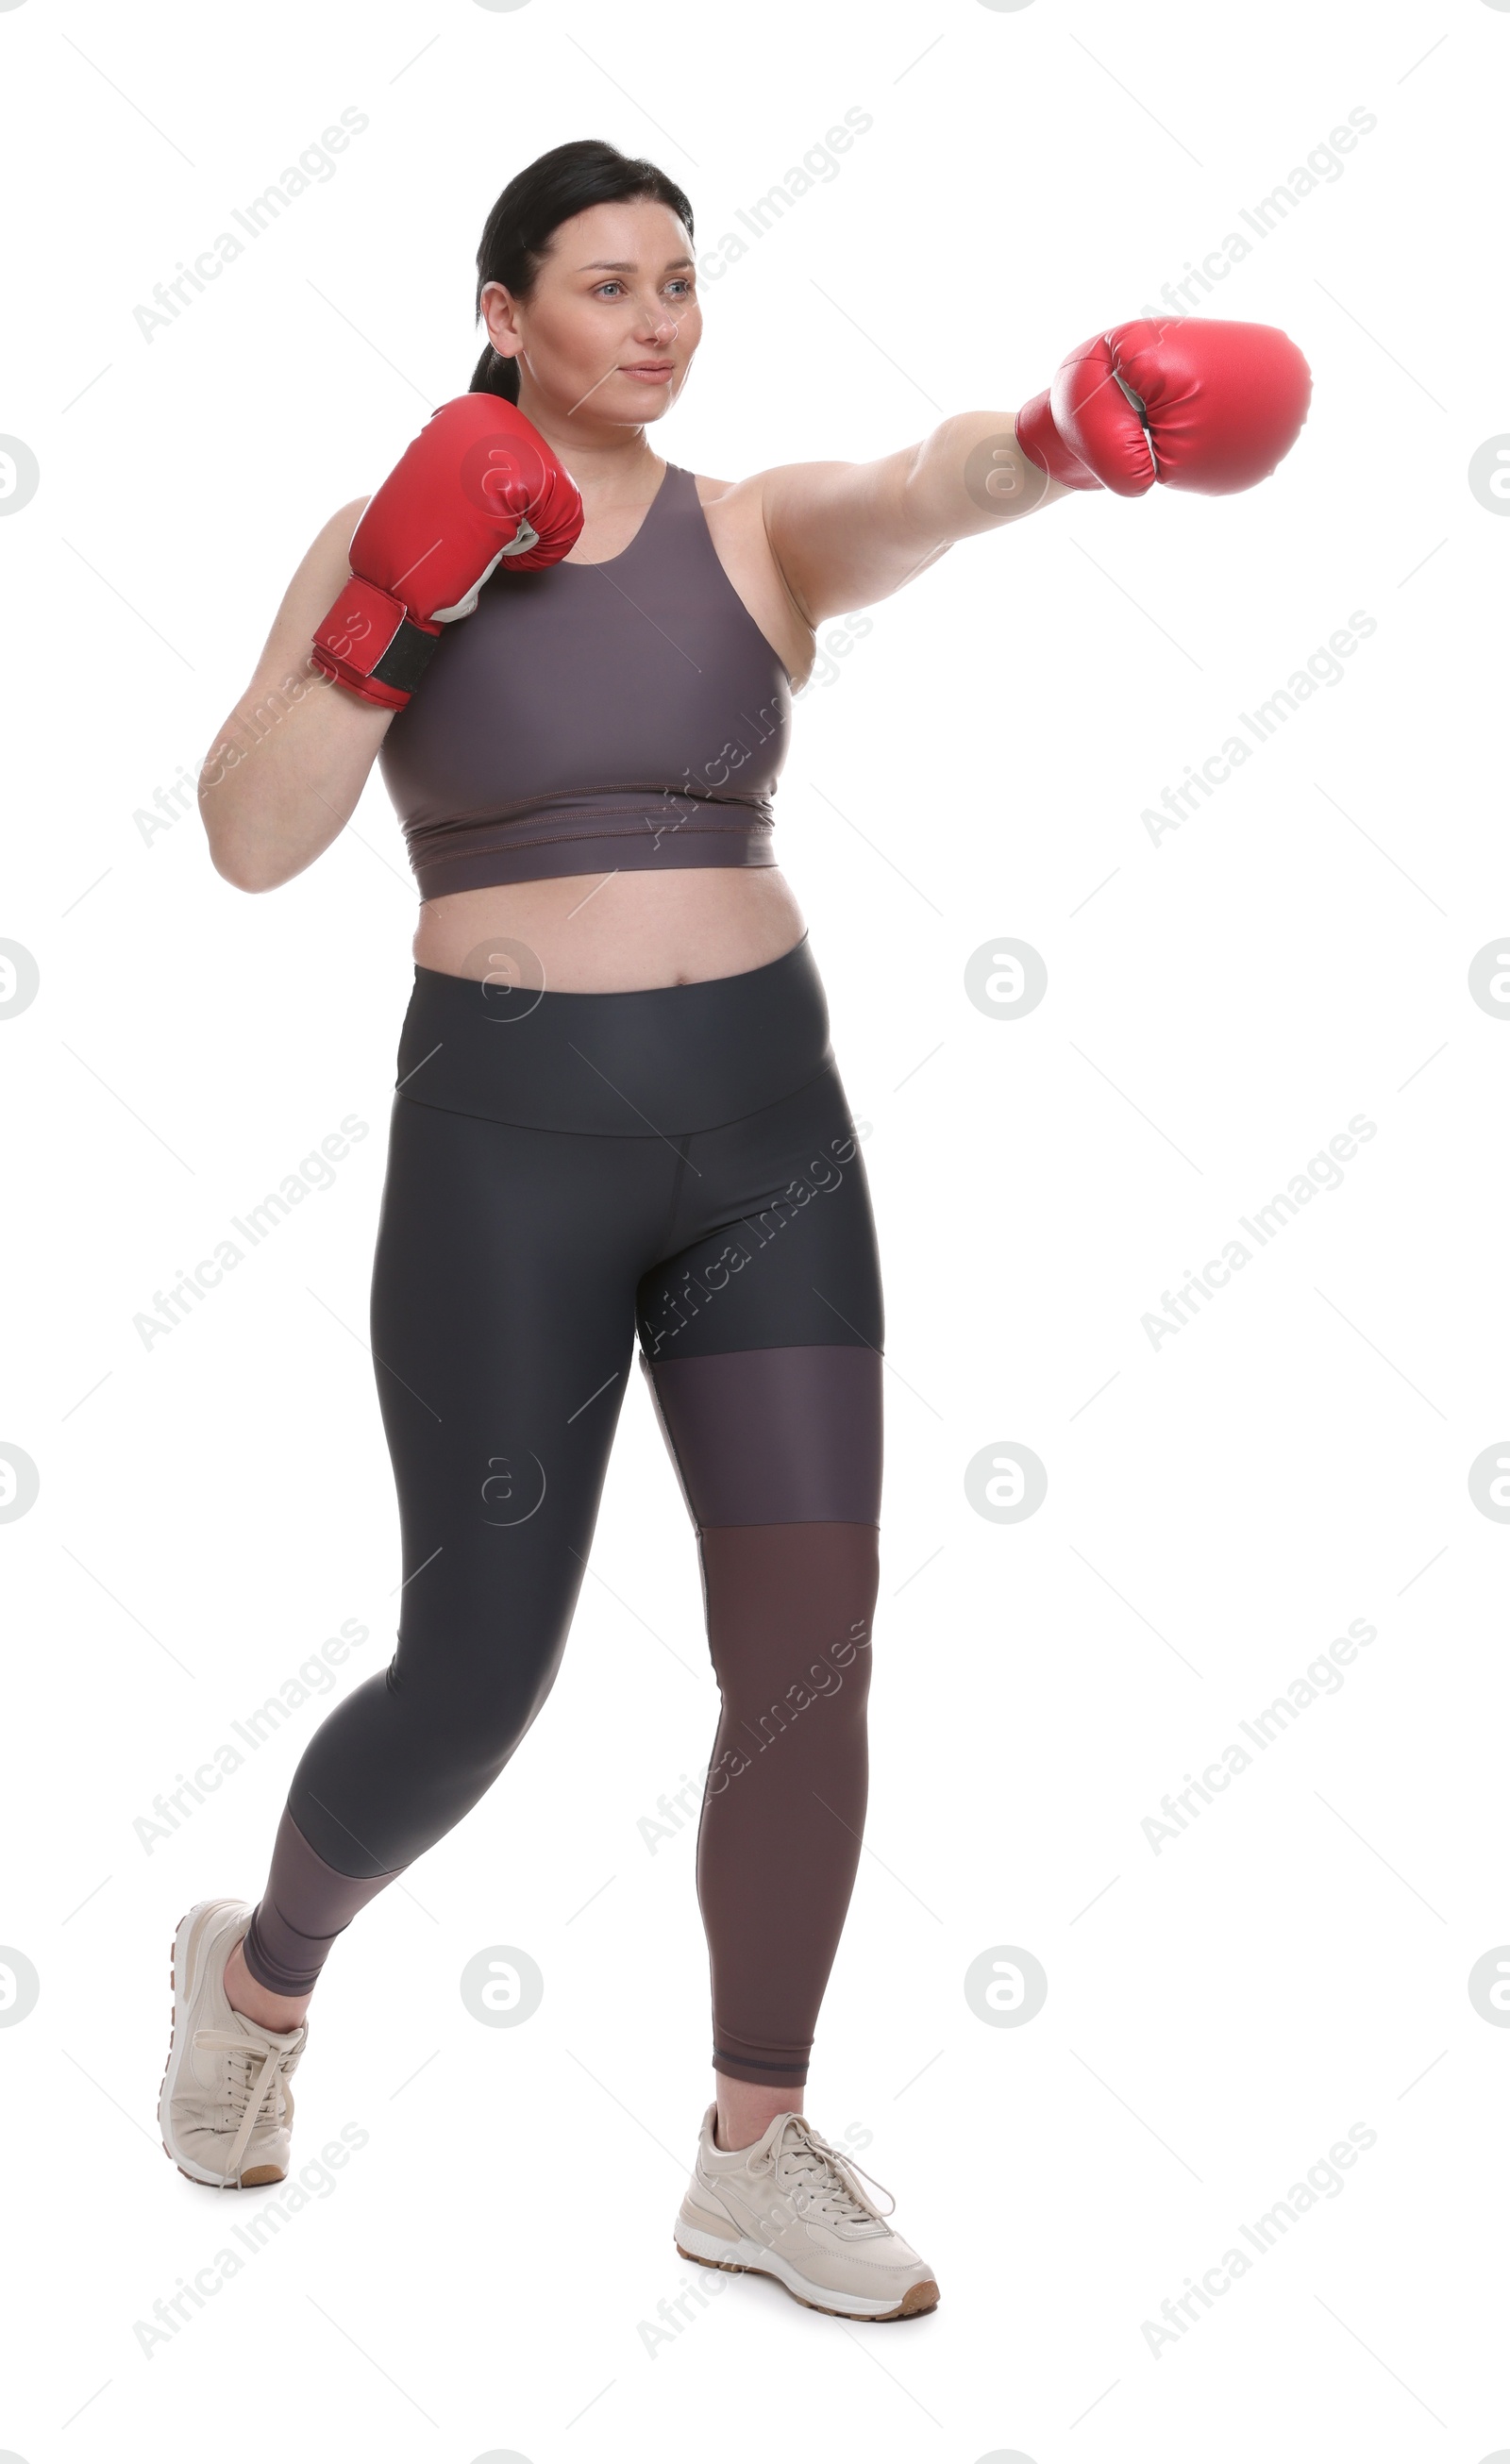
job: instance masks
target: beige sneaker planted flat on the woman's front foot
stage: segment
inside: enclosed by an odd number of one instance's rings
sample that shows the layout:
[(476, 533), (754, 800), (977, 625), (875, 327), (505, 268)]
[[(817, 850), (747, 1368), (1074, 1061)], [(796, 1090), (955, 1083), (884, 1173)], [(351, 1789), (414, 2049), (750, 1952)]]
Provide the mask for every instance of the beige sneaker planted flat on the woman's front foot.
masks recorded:
[(751, 2149), (719, 2149), (714, 2117), (709, 2104), (675, 2223), (685, 2259), (776, 2277), (808, 2309), (835, 2319), (916, 2319), (936, 2309), (934, 2269), (892, 2232), (892, 2210), (882, 2215), (860, 2188), (852, 2156), (801, 2114), (776, 2114)]

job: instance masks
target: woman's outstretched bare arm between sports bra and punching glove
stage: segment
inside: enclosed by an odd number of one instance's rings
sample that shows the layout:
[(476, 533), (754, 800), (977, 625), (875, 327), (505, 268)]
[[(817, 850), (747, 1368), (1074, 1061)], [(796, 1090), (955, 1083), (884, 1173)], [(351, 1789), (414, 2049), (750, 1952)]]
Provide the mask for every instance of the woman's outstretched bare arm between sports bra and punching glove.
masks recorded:
[(889, 599), (956, 540), (1072, 495), (1027, 461), (1010, 411), (961, 411), (872, 463), (788, 463), (751, 480), (808, 623)]

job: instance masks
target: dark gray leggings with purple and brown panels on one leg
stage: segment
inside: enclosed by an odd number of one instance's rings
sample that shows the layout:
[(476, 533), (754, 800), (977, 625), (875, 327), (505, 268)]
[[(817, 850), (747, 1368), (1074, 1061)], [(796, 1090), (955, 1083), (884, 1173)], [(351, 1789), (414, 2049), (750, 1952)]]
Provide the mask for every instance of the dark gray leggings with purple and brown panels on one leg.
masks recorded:
[(308, 1991), (542, 1710), (638, 1331), (722, 1688), (714, 2065), (798, 2087), (865, 1828), (882, 1486), (879, 1264), (818, 968), (803, 939), (648, 993), (414, 976), (372, 1276), (399, 1646), (293, 1774), (246, 1966)]

